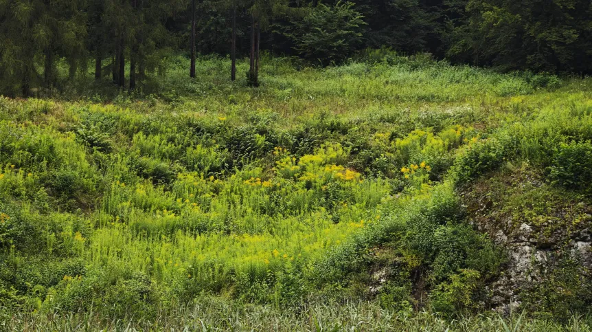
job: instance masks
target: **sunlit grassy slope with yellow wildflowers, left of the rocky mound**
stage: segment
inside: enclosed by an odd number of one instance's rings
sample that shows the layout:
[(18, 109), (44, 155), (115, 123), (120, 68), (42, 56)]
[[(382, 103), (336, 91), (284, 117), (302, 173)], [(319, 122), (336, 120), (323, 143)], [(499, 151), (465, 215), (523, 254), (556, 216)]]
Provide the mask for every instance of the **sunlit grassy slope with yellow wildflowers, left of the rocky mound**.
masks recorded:
[[(442, 311), (473, 311), (474, 304), (446, 300), (448, 278), (468, 269), (485, 282), (499, 273), (501, 258), (470, 230), (458, 242), (465, 258), (435, 256), (442, 251), (435, 235), (464, 230), (455, 184), (504, 157), (544, 168), (549, 160), (537, 156), (549, 151), (541, 138), (549, 130), (557, 131), (555, 144), (592, 138), (591, 80), (551, 91), (525, 75), (421, 59), (303, 71), (282, 59), (265, 63), (260, 89), (228, 82), (225, 60), (201, 61), (192, 82), (186, 63), (174, 59), (167, 78), (146, 85), (148, 96), (139, 99), (95, 103), (110, 98), (106, 82), (77, 87), (76, 96), (91, 101), (2, 99), (2, 304), (95, 310), (106, 324), (130, 312), (159, 313), (172, 326), (198, 310), (177, 311), (179, 302), (215, 294), (265, 304), (253, 315), (278, 315), (286, 327), (307, 320), (312, 328), (313, 317), (333, 311), (343, 326), (357, 324), (343, 322), (337, 309), (286, 311), (315, 293), (312, 301), (321, 303), (377, 298), (360, 305), (369, 309), (348, 310), (378, 314), (376, 328), (389, 329), (399, 324), (393, 311), (429, 304), (409, 281), (421, 272), (429, 284), (422, 291), (442, 290), (433, 300)], [(519, 139), (493, 152), (499, 160), (472, 163), (471, 151), (507, 136)], [(415, 166), (413, 175), (401, 172)], [(413, 240), (422, 236), (425, 242)], [(473, 245), (476, 252), (467, 248)], [(368, 251), (376, 246), (407, 273), (378, 296), (367, 294), (371, 276), (358, 273), (381, 264)], [(466, 258), (483, 254), (492, 255), (487, 264)], [(213, 307), (205, 310), (222, 310)], [(257, 320), (238, 316), (241, 328)], [(29, 320), (63, 324), (19, 317), (13, 329)], [(426, 317), (409, 324), (445, 324)]]

